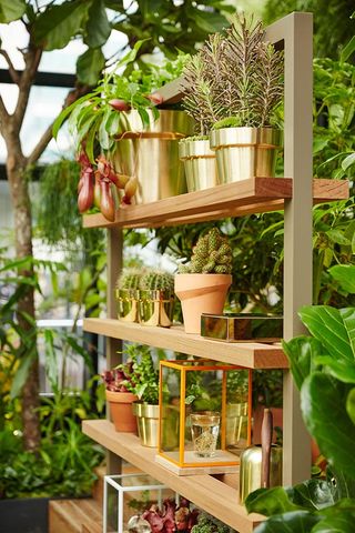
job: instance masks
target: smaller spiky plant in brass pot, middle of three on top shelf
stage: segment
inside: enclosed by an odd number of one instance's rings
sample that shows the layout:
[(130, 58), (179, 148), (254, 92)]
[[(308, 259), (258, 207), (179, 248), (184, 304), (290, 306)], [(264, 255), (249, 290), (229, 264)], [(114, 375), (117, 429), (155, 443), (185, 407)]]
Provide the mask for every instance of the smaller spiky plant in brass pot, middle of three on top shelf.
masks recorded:
[(215, 152), (210, 148), (209, 138), (213, 123), (219, 119), (215, 109), (211, 107), (215, 73), (210, 68), (210, 61), (213, 51), (220, 50), (221, 41), (220, 33), (211, 36), (183, 69), (182, 107), (196, 124), (194, 137), (179, 141), (179, 155), (184, 162), (189, 192), (219, 184)]

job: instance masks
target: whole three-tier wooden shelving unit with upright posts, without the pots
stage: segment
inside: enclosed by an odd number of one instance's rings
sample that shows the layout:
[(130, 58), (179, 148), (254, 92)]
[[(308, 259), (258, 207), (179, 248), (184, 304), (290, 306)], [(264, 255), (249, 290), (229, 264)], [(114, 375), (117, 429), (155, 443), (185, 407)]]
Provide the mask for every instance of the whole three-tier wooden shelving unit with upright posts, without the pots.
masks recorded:
[[(122, 264), (122, 228), (195, 223), (283, 209), (284, 338), (290, 340), (304, 333), (297, 311), (312, 302), (312, 204), (348, 198), (348, 184), (337, 180), (312, 180), (312, 14), (292, 13), (268, 27), (265, 38), (282, 43), (285, 51), (284, 173), (288, 178), (254, 178), (131, 205), (120, 209), (112, 223), (101, 214), (84, 217), (85, 228), (109, 230), (109, 319), (87, 319), (84, 330), (106, 336), (108, 368), (116, 364), (119, 340), (126, 339), (252, 369), (284, 369), (283, 483), (292, 484), (310, 477), (311, 444), (302, 422), (298, 394), (280, 344), (220, 343), (186, 335), (179, 328), (164, 330), (114, 320), (113, 289)], [(165, 102), (179, 101), (180, 83), (162, 88)], [(83, 431), (112, 452), (109, 470), (118, 467), (114, 461), (123, 457), (240, 533), (252, 532), (263, 519), (247, 515), (237, 504), (235, 474), (225, 475), (223, 480), (211, 475), (179, 477), (155, 463), (154, 450), (142, 447), (134, 435), (116, 433), (108, 421), (85, 421)]]

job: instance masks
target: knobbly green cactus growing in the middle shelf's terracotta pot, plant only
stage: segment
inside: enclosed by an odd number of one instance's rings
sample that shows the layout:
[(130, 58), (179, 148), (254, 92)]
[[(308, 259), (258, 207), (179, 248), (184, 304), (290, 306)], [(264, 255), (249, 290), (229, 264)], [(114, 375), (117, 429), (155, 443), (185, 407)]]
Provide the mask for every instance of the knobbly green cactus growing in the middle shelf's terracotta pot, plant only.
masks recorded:
[(232, 249), (217, 228), (200, 237), (192, 250), (190, 264), (179, 265), (181, 274), (230, 274), (232, 272)]

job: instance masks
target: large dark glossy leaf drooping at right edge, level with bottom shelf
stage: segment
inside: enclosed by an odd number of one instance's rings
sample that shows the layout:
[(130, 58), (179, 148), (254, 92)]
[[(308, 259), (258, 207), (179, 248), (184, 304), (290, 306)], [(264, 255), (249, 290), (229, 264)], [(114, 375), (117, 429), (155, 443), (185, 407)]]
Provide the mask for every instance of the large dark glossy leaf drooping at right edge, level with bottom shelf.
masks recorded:
[(301, 390), (301, 408), (306, 426), (332, 466), (355, 479), (355, 425), (345, 408), (349, 386), (332, 376), (314, 372)]

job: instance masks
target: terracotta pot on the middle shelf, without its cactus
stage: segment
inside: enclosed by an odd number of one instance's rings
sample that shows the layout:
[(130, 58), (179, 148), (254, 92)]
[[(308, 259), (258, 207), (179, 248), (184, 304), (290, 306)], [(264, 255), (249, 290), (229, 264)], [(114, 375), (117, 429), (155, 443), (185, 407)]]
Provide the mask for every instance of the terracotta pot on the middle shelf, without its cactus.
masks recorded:
[(186, 333), (201, 333), (201, 314), (221, 314), (231, 274), (176, 274), (175, 294), (181, 300)]

